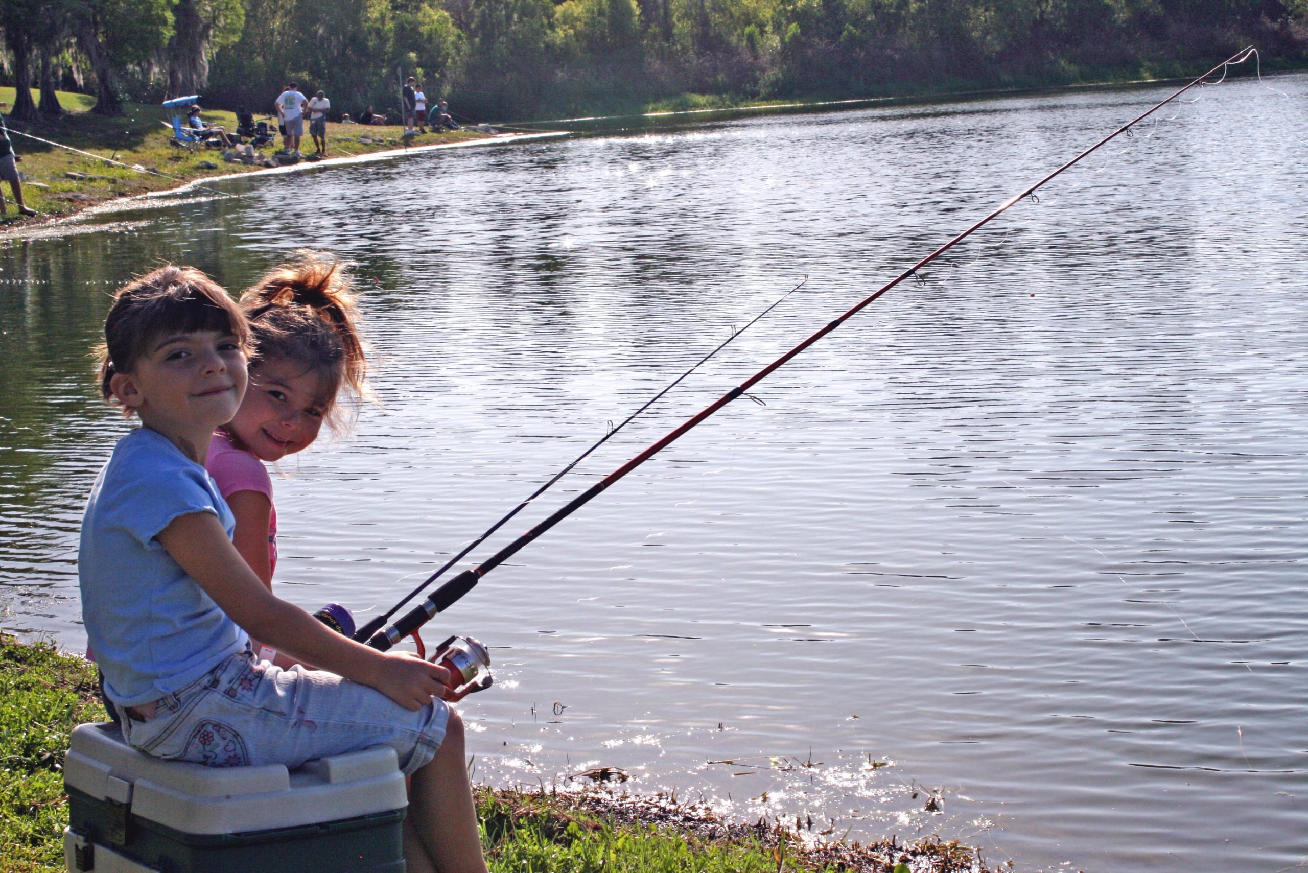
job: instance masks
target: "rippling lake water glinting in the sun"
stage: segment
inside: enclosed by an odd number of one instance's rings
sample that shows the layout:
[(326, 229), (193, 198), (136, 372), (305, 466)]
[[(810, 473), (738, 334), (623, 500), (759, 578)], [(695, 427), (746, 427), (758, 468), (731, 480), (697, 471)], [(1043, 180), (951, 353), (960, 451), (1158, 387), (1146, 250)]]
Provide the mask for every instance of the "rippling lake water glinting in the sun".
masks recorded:
[[(433, 622), (497, 663), (476, 778), (615, 766), (1019, 869), (1301, 864), (1308, 76), (1269, 84), (1096, 153)], [(668, 119), (8, 244), (3, 625), (84, 646), (77, 527), (126, 427), (88, 355), (133, 273), (358, 263), (381, 404), (283, 464), (277, 591), (368, 616), (802, 276), (509, 532), (1165, 93)]]

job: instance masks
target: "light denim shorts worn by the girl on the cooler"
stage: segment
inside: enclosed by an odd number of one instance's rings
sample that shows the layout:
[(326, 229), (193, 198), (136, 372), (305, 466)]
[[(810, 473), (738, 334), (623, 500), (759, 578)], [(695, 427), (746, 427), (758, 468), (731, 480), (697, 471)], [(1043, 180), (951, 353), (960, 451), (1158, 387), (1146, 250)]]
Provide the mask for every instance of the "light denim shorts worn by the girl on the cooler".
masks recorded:
[(335, 673), (284, 670), (246, 651), (160, 699), (149, 720), (123, 717), (122, 725), (129, 745), (166, 761), (296, 768), (385, 744), (409, 775), (441, 748), (449, 719), (445, 700), (411, 712)]

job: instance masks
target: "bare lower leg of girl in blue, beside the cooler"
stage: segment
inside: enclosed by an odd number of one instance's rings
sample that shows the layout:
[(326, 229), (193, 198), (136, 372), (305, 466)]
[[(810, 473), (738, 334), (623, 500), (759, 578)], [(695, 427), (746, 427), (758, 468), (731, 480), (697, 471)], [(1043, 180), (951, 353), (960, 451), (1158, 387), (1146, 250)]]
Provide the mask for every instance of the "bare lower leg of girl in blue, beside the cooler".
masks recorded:
[(463, 720), (454, 710), (436, 757), (413, 772), (408, 821), (438, 870), (484, 873), (487, 869), (463, 751)]

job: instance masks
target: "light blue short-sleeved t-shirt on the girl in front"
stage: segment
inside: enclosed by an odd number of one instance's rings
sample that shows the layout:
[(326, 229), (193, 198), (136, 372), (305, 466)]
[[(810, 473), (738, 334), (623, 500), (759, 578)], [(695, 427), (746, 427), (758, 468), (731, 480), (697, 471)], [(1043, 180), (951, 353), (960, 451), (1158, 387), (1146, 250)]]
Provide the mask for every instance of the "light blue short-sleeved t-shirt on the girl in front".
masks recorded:
[(235, 531), (213, 480), (166, 436), (139, 427), (118, 440), (86, 502), (77, 579), (86, 638), (119, 706), (178, 691), (249, 644), (154, 538), (191, 512)]

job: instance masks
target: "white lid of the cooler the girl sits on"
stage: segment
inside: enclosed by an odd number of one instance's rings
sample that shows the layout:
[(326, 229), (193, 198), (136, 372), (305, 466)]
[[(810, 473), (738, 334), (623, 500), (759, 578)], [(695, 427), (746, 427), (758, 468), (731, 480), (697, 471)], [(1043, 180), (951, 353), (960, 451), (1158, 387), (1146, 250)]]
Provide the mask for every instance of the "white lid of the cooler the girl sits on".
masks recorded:
[(408, 805), (395, 750), (283, 765), (205, 767), (132, 749), (112, 724), (73, 729), (64, 783), (184, 834), (241, 834), (354, 818)]

